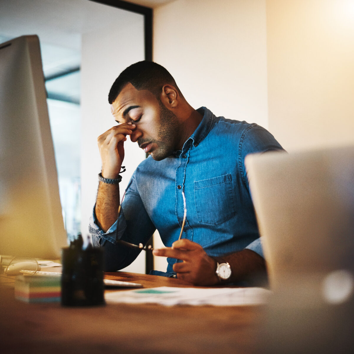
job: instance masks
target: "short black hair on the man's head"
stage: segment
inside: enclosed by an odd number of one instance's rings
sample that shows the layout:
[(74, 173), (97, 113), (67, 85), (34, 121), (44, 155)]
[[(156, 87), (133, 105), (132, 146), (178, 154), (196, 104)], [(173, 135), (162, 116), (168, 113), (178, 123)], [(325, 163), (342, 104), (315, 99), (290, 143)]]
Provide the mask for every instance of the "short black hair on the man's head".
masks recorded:
[(128, 82), (137, 90), (149, 90), (156, 97), (159, 97), (162, 87), (166, 84), (175, 86), (180, 92), (175, 79), (162, 65), (143, 60), (130, 65), (119, 74), (109, 90), (109, 104), (115, 101)]

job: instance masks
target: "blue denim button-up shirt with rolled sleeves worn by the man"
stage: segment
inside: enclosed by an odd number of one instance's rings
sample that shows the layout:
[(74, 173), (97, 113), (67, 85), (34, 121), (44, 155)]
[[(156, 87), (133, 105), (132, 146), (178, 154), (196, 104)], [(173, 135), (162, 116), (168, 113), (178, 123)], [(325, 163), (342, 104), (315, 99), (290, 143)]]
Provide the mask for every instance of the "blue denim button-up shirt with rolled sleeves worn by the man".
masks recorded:
[[(263, 257), (244, 160), (247, 154), (282, 147), (257, 124), (217, 118), (205, 107), (198, 112), (203, 119), (182, 151), (161, 161), (149, 156), (133, 173), (121, 207), (118, 238), (146, 244), (158, 229), (170, 247), (182, 226), (184, 190), (183, 238), (197, 242), (210, 256), (247, 248)], [(105, 247), (105, 270), (129, 265), (140, 250), (116, 244), (117, 222), (104, 233), (95, 219), (93, 212), (89, 229), (93, 245)], [(176, 259), (167, 262), (167, 272), (173, 273)]]

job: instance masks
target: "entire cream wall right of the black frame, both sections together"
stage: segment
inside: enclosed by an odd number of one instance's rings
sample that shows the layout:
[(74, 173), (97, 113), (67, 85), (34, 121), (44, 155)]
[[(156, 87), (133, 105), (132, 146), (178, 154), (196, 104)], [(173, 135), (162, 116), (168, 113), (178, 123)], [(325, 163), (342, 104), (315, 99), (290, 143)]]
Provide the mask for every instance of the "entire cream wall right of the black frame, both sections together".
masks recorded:
[(154, 10), (153, 53), (193, 107), (288, 150), (354, 142), (354, 0), (177, 0)]

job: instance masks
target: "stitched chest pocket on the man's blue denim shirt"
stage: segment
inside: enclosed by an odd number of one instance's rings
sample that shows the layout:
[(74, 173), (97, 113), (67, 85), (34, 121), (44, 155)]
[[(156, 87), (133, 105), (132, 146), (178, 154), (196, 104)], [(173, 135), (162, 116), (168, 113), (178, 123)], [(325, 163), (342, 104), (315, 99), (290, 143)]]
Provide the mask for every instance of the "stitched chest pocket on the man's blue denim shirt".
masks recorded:
[(195, 208), (198, 221), (220, 225), (236, 215), (231, 175), (194, 182)]

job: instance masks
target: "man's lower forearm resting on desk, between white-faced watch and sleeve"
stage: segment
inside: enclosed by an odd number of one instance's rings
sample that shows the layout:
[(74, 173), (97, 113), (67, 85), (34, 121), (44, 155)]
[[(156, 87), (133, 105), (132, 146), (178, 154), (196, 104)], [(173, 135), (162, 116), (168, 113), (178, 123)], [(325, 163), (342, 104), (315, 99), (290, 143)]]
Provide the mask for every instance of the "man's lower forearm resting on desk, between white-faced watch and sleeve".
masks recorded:
[(261, 278), (267, 274), (264, 258), (249, 249), (212, 258), (218, 263), (230, 264), (232, 273), (227, 282)]

